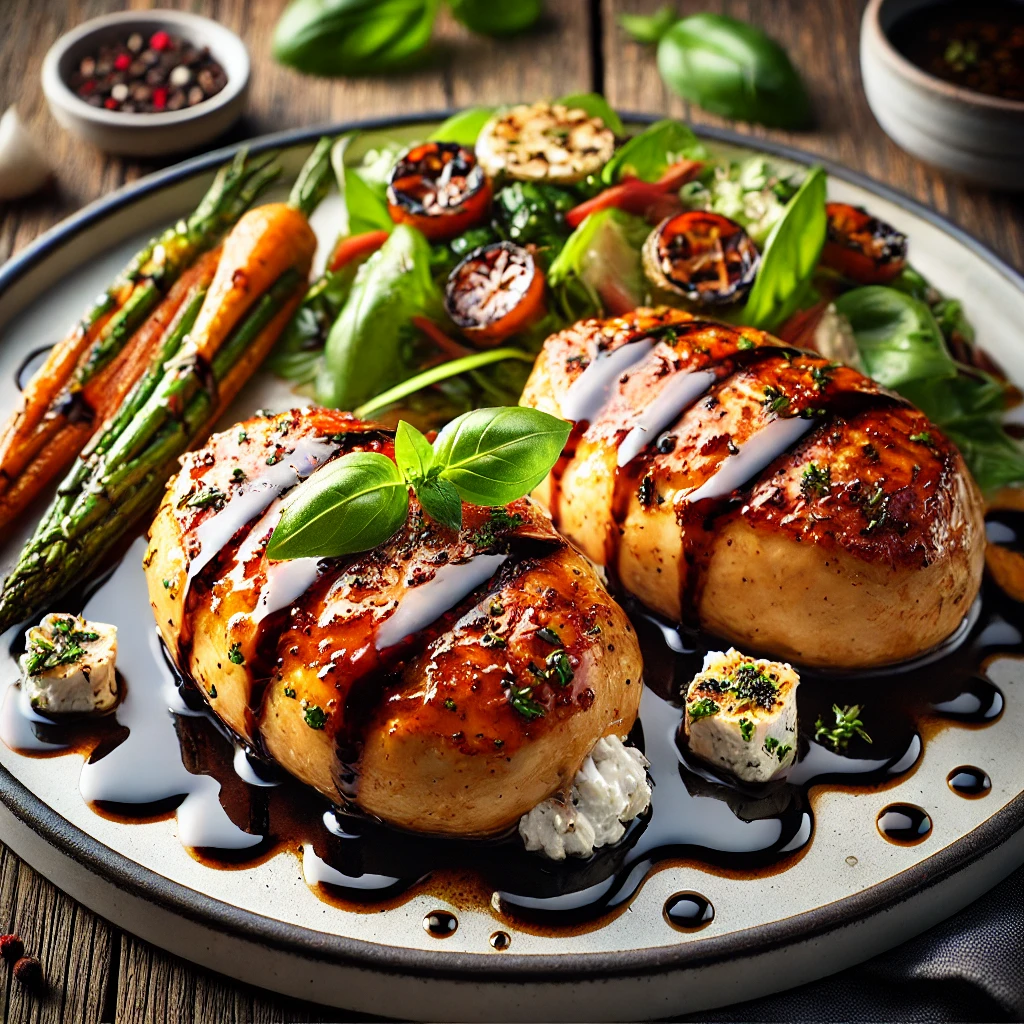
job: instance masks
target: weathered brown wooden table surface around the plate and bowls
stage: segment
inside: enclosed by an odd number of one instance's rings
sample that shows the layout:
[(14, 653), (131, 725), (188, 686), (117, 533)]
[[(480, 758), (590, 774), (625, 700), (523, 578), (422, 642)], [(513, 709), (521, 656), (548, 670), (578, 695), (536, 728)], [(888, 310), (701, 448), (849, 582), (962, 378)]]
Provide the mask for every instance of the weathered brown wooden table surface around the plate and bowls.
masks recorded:
[[(501, 0), (495, 0), (501, 2)], [(513, 2), (513, 0), (509, 0)], [(659, 0), (549, 0), (542, 29), (496, 43), (471, 38), (444, 14), (432, 67), (400, 78), (302, 78), (274, 65), (270, 37), (284, 0), (161, 0), (208, 14), (239, 33), (253, 60), (248, 114), (231, 137), (418, 110), (603, 91), (625, 111), (725, 124), (669, 93), (649, 50), (625, 38), (620, 14), (651, 12)], [(0, 0), (0, 110), (16, 103), (58, 168), (53, 188), (0, 204), (0, 262), (83, 204), (158, 164), (106, 157), (50, 118), (39, 84), (47, 47), (121, 0)], [(857, 40), (863, 0), (682, 0), (682, 12), (721, 10), (766, 29), (788, 50), (814, 97), (809, 132), (738, 126), (866, 172), (959, 224), (1024, 269), (1019, 199), (958, 183), (898, 150), (864, 99)], [(342, 1014), (238, 985), (111, 927), (0, 847), (0, 930), (16, 929), (41, 958), (48, 989), (27, 997), (0, 980), (4, 1021), (311, 1021)], [(0, 975), (2, 979), (2, 975)]]

